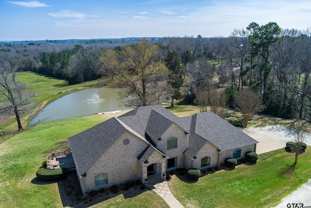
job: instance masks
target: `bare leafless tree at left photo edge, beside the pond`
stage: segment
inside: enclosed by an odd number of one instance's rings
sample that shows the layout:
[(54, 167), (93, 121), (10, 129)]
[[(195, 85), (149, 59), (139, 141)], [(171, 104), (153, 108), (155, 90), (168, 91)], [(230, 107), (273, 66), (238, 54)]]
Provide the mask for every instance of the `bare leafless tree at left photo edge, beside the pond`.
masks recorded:
[(20, 110), (28, 104), (32, 94), (24, 83), (16, 80), (18, 65), (16, 56), (13, 57), (12, 54), (0, 52), (0, 95), (5, 96), (10, 103), (10, 105), (2, 106), (1, 110), (6, 111), (6, 113), (14, 111), (19, 131), (23, 129), (20, 121)]

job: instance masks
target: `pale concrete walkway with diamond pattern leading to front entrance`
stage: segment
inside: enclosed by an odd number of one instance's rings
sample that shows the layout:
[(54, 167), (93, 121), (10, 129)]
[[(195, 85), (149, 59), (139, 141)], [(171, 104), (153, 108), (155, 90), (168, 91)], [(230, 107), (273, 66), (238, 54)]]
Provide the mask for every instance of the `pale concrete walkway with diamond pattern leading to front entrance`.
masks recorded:
[(167, 181), (162, 180), (160, 175), (148, 176), (148, 184), (146, 186), (161, 196), (171, 208), (184, 208), (184, 206), (173, 196)]

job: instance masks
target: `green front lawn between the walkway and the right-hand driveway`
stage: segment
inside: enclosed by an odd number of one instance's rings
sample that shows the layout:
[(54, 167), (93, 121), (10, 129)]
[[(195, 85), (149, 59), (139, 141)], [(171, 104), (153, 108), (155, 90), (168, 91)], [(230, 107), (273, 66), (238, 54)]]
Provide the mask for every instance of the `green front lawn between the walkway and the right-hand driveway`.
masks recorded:
[(235, 170), (206, 175), (195, 183), (174, 178), (169, 186), (186, 208), (271, 207), (310, 178), (311, 151), (299, 156), (290, 178), (280, 172), (294, 163), (292, 153), (277, 150), (259, 157), (262, 159), (253, 166), (242, 165)]

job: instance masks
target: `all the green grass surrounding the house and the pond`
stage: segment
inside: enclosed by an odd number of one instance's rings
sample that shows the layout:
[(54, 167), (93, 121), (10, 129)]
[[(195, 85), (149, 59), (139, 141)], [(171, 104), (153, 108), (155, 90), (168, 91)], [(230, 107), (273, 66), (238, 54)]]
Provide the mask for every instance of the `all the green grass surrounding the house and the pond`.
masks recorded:
[[(34, 102), (43, 107), (47, 103), (70, 92), (95, 87), (97, 81), (69, 86), (66, 81), (53, 79), (35, 73), (21, 73), (20, 81), (27, 82), (36, 97)], [(60, 91), (69, 90), (64, 94)], [(175, 105), (168, 107), (178, 116), (198, 113), (196, 106)], [(39, 110), (38, 108), (37, 110)], [(35, 109), (34, 109), (35, 110)], [(123, 112), (124, 113), (124, 112)], [(118, 116), (114, 115), (114, 116)], [(32, 115), (35, 116), (35, 113)], [(67, 138), (82, 132), (112, 115), (91, 115), (39, 124), (17, 133), (0, 144), (0, 207), (63, 207), (64, 199), (58, 183), (38, 185), (35, 172), (41, 167), (46, 156), (68, 147)], [(30, 117), (24, 117), (23, 125)], [(241, 113), (227, 110), (225, 119), (242, 119)], [(271, 116), (256, 115), (250, 125), (280, 123), (288, 125), (291, 121)], [(9, 129), (14, 120), (0, 126)], [(9, 127), (10, 126), (10, 127)], [(170, 181), (174, 195), (185, 207), (270, 207), (305, 183), (311, 175), (311, 152), (299, 156), (293, 177), (286, 178), (279, 172), (292, 164), (294, 155), (283, 150), (261, 154), (254, 166), (240, 166), (235, 170), (204, 176), (196, 183), (185, 183), (179, 178)], [(67, 206), (69, 204), (65, 204)], [(71, 203), (70, 206), (75, 206)], [(167, 207), (166, 203), (154, 192), (146, 191), (133, 198), (117, 196), (96, 204), (94, 207)]]

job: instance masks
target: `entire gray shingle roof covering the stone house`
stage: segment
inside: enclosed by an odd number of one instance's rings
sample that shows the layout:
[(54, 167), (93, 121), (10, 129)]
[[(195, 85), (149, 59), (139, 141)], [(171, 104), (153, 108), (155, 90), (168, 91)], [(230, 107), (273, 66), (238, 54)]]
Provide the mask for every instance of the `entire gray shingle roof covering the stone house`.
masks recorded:
[(148, 145), (138, 155), (140, 162), (146, 162), (154, 151), (158, 151), (164, 158), (167, 158), (167, 155), (157, 150), (146, 139), (146, 136), (158, 139), (173, 123), (185, 132), (190, 132), (188, 149), (185, 151), (190, 158), (195, 158), (195, 154), (207, 142), (214, 145), (218, 151), (237, 149), (258, 143), (212, 112), (177, 117), (160, 105), (144, 106), (68, 138), (78, 174), (84, 175), (86, 170), (125, 131), (131, 132)]

